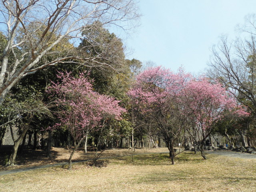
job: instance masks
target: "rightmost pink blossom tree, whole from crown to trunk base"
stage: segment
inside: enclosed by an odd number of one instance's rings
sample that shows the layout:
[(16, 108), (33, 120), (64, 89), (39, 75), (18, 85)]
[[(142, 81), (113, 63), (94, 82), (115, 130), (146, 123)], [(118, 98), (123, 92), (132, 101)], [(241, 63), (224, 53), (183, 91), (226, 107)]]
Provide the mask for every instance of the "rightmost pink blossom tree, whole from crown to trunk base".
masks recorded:
[(199, 144), (204, 159), (204, 143), (214, 130), (216, 122), (224, 118), (227, 112), (236, 116), (249, 115), (221, 84), (209, 82), (207, 78), (190, 80), (182, 90), (180, 102), (188, 113), (192, 128), (190, 136), (194, 143)]

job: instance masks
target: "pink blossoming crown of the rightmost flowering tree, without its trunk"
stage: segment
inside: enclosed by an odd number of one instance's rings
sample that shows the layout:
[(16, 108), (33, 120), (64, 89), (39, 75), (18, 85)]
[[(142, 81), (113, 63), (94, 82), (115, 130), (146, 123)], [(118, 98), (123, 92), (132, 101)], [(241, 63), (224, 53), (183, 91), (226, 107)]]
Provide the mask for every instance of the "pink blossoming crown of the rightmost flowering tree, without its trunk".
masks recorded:
[(230, 112), (236, 116), (248, 116), (245, 107), (237, 104), (233, 95), (219, 83), (209, 82), (207, 78), (192, 79), (184, 88), (181, 101), (190, 113), (190, 117), (196, 119), (196, 124), (202, 129), (224, 117), (224, 112)]

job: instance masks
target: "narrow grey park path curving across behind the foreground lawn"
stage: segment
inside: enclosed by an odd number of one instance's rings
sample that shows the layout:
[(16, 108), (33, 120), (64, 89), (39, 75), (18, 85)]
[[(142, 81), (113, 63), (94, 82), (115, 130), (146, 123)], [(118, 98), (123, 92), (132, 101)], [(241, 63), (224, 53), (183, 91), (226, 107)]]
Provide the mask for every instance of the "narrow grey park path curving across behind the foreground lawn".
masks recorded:
[[(163, 153), (169, 153), (169, 151), (166, 152), (151, 152), (151, 153), (141, 153), (141, 154), (134, 154), (134, 156), (137, 155), (147, 155), (147, 154), (163, 154)], [(234, 158), (242, 158), (242, 159), (256, 159), (256, 155), (254, 154), (248, 154), (248, 153), (241, 153), (241, 152), (232, 152), (232, 151), (206, 151), (208, 154), (216, 154), (216, 155), (222, 155), (222, 156), (228, 156), (228, 157), (234, 157)], [(122, 155), (122, 156), (114, 156), (114, 157), (103, 157), (99, 159), (111, 159), (116, 157), (127, 157), (132, 155)], [(83, 160), (83, 161), (75, 161), (72, 162), (75, 163), (81, 163), (81, 162), (87, 162), (91, 161), (89, 160)], [(47, 164), (47, 165), (41, 165), (41, 166), (32, 166), (32, 167), (26, 167), (26, 168), (20, 168), (20, 169), (13, 169), (13, 170), (4, 170), (0, 171), (0, 176), (8, 175), (8, 174), (14, 174), (24, 171), (31, 171), (36, 169), (43, 169), (43, 168), (49, 168), (49, 167), (56, 167), (56, 166), (64, 166), (68, 164), (68, 162), (62, 162), (62, 163), (55, 163), (55, 164)]]

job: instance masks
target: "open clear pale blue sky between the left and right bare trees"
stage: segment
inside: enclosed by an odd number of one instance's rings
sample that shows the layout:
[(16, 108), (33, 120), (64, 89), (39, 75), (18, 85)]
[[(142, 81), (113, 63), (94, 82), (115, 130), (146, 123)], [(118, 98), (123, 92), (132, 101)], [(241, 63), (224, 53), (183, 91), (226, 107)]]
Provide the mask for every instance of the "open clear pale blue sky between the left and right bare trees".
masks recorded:
[(256, 13), (256, 0), (140, 0), (139, 7), (141, 25), (124, 38), (133, 50), (127, 57), (197, 74), (219, 37), (234, 38), (235, 26)]

